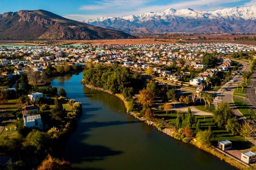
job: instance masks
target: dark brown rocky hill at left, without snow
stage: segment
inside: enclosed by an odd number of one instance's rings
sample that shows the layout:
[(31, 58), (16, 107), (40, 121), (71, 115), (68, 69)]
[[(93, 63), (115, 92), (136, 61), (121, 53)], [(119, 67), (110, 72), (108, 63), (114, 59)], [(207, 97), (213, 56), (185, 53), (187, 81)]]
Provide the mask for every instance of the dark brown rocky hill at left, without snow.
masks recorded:
[(91, 26), (44, 10), (0, 14), (1, 40), (94, 40), (131, 37), (123, 31)]

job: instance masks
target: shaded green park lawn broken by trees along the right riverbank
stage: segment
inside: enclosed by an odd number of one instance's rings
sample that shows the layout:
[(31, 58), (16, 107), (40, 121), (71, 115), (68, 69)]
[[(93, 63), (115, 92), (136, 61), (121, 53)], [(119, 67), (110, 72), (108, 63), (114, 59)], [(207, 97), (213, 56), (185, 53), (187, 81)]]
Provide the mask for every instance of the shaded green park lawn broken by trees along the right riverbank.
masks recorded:
[[(161, 112), (161, 111), (155, 111), (154, 112), (154, 116), (158, 119), (162, 119), (164, 118), (164, 120), (167, 120), (168, 122), (170, 122), (172, 125), (176, 125), (176, 118), (177, 118), (177, 113), (169, 113), (166, 114), (166, 112)], [(183, 120), (182, 123), (182, 127), (186, 127), (187, 126), (187, 114), (185, 114), (185, 119)], [(219, 140), (222, 139), (227, 139), (230, 140), (231, 142), (233, 142), (233, 147), (235, 147), (238, 150), (244, 150), (244, 149), (248, 149), (250, 147), (253, 147), (254, 145), (245, 140), (244, 137), (239, 136), (239, 135), (231, 135), (230, 133), (228, 133), (226, 131), (226, 129), (221, 129), (218, 128), (213, 122), (212, 122), (212, 116), (196, 116), (198, 118), (198, 120), (201, 123), (201, 129), (202, 130), (206, 130), (208, 129), (209, 125), (212, 128), (212, 133), (214, 134), (214, 140), (212, 142), (213, 145), (217, 145)], [(195, 127), (192, 128), (192, 130), (194, 131), (194, 134), (196, 134), (195, 132)]]

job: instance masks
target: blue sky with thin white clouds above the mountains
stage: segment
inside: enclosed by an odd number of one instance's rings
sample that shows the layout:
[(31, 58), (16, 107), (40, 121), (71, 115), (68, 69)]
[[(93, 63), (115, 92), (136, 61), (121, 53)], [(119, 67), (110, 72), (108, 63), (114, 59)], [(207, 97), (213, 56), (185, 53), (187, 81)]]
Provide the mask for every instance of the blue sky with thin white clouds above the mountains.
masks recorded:
[(0, 14), (21, 9), (44, 9), (74, 20), (116, 17), (168, 8), (213, 11), (220, 8), (256, 5), (256, 0), (0, 0)]

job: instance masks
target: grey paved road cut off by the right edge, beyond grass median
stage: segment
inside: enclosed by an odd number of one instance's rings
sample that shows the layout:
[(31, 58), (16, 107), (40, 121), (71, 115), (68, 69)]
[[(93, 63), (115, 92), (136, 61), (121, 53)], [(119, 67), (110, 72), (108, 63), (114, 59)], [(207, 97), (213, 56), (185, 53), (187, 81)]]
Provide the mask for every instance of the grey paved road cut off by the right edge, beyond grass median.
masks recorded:
[(253, 72), (253, 76), (249, 82), (249, 85), (247, 86), (246, 95), (248, 98), (248, 104), (251, 106), (253, 111), (256, 113), (256, 70)]

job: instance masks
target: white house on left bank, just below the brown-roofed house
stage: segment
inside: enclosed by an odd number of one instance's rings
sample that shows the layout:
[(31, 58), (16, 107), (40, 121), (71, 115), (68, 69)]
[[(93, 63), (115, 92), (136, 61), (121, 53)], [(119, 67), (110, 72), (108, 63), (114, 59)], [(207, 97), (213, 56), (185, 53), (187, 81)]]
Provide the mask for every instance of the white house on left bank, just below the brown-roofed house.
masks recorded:
[(37, 127), (39, 129), (43, 129), (43, 123), (40, 114), (23, 115), (23, 121), (25, 127)]

